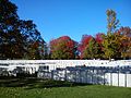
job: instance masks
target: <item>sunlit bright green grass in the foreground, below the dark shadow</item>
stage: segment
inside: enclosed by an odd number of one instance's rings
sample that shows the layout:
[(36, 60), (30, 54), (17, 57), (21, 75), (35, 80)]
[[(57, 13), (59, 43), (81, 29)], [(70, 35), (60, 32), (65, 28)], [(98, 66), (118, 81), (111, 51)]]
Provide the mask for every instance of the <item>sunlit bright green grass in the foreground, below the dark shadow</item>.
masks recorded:
[[(56, 84), (56, 82), (50, 83)], [(35, 83), (35, 87), (32, 88), (27, 86), (0, 87), (0, 98), (131, 98), (131, 88), (100, 85), (46, 88), (37, 84)]]

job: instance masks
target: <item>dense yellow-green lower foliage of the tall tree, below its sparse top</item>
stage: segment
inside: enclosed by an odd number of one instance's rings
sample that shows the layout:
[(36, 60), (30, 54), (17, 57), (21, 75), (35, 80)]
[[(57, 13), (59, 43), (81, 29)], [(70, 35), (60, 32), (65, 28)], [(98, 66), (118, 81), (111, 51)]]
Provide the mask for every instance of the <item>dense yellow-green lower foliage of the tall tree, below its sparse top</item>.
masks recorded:
[(117, 34), (109, 34), (109, 35), (104, 35), (104, 58), (105, 59), (119, 59), (120, 58), (120, 40), (119, 40), (119, 35)]

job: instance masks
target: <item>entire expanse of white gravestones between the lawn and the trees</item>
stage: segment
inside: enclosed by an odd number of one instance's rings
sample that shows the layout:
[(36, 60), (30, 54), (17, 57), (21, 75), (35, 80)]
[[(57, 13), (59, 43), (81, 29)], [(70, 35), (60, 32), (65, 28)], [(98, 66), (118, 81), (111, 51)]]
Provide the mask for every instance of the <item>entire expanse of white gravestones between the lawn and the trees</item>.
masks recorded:
[(0, 60), (0, 73), (38, 72), (38, 77), (131, 87), (131, 60)]

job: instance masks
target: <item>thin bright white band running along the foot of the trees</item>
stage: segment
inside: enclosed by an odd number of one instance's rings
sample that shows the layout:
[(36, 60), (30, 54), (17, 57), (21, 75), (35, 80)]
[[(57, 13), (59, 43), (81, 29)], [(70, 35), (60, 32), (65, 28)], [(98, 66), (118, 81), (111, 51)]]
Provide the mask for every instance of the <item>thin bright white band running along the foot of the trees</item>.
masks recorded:
[(122, 66), (131, 65), (131, 60), (0, 60), (0, 64), (22, 65), (22, 64), (50, 64), (60, 68), (75, 66), (75, 65), (90, 65), (90, 66)]

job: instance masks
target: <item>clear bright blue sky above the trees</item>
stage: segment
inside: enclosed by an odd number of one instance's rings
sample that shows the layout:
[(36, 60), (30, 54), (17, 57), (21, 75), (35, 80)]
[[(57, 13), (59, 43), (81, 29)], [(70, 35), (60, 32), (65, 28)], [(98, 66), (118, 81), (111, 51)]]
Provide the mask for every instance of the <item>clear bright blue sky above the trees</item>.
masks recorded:
[(11, 0), (22, 20), (33, 20), (49, 42), (63, 35), (80, 41), (82, 35), (106, 33), (106, 10), (117, 12), (121, 26), (131, 27), (131, 0)]

